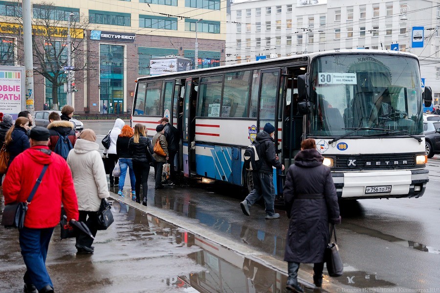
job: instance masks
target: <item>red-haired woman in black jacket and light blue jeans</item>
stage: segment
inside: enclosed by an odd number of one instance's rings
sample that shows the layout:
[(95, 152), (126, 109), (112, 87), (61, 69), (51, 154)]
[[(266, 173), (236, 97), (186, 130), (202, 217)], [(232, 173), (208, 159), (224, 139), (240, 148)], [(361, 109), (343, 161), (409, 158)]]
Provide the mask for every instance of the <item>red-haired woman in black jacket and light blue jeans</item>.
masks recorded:
[(118, 135), (116, 140), (116, 154), (119, 160), (119, 168), (121, 169), (121, 175), (119, 176), (119, 191), (118, 195), (124, 196), (124, 182), (125, 176), (127, 175), (127, 168), (129, 168), (130, 174), (130, 186), (132, 188), (132, 199), (136, 200), (136, 192), (134, 191), (134, 186), (136, 183), (136, 178), (134, 177), (133, 164), (132, 164), (132, 154), (128, 150), (128, 144), (130, 139), (133, 137), (134, 131), (132, 127), (124, 125), (121, 129), (121, 134)]

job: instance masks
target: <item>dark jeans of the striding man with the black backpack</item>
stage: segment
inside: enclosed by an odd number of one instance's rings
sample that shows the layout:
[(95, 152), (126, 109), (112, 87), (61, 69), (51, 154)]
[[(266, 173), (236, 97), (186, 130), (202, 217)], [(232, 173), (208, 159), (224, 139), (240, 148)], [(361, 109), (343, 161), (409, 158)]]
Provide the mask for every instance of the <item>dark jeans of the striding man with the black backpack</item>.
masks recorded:
[(275, 188), (273, 187), (273, 174), (252, 172), (254, 189), (246, 196), (249, 207), (255, 204), (261, 197), (264, 199), (266, 215), (275, 213)]

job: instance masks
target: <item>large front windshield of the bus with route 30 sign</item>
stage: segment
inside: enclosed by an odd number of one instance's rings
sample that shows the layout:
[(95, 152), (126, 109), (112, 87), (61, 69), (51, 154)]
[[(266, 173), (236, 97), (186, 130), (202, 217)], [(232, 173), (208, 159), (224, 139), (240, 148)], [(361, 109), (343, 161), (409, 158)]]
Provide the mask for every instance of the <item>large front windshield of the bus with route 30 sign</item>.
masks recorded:
[(334, 54), (312, 60), (310, 134), (380, 136), (380, 129), (387, 136), (422, 134), (418, 72), (417, 59), (404, 55)]

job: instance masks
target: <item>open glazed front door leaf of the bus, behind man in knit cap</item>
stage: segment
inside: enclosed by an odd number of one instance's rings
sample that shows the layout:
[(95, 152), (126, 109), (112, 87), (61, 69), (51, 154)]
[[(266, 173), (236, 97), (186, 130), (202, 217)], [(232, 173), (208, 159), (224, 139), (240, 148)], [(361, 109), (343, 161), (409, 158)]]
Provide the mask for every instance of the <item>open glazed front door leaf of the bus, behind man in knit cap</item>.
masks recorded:
[[(278, 123), (277, 123), (277, 105), (279, 96), (279, 86), (281, 78), (280, 69), (262, 70), (260, 79), (260, 104), (258, 108), (258, 129), (262, 131), (266, 123), (270, 123), (275, 127), (275, 149), (278, 150)], [(278, 151), (277, 151), (278, 153)], [(280, 170), (281, 172), (281, 170)], [(279, 172), (277, 171), (277, 174)], [(277, 182), (277, 177), (274, 178), (274, 186)]]

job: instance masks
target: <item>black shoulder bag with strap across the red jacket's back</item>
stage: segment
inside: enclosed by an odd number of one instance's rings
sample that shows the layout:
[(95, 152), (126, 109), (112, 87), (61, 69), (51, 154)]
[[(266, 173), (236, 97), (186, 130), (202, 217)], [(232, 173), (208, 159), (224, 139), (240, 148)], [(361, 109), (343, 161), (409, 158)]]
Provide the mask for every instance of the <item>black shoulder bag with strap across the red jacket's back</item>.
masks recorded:
[(12, 203), (4, 207), (3, 216), (1, 217), (1, 225), (3, 225), (4, 228), (22, 229), (24, 227), (24, 217), (26, 216), (27, 205), (31, 202), (35, 192), (37, 192), (48, 166), (49, 165), (44, 165), (37, 182), (35, 182), (34, 188), (32, 188), (29, 197), (24, 203)]

